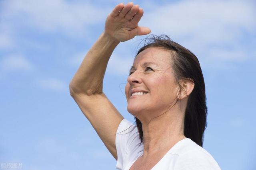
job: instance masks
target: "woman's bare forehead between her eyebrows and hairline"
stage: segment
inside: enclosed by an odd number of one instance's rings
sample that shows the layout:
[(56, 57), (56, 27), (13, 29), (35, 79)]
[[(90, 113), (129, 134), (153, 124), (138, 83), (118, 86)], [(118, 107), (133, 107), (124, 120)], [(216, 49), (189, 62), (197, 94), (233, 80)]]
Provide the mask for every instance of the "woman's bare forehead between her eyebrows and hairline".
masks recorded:
[(160, 67), (170, 66), (172, 63), (172, 53), (166, 49), (157, 47), (150, 47), (140, 52), (134, 59), (134, 66), (141, 65), (142, 63), (157, 64)]

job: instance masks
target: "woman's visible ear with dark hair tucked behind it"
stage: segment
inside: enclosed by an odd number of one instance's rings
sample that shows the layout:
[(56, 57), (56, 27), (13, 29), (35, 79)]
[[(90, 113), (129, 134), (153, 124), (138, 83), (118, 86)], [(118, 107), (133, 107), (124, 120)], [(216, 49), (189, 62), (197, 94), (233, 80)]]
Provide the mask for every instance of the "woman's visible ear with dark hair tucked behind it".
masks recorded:
[(191, 79), (185, 79), (180, 81), (180, 90), (177, 94), (177, 98), (182, 100), (188, 97), (194, 89), (194, 81)]

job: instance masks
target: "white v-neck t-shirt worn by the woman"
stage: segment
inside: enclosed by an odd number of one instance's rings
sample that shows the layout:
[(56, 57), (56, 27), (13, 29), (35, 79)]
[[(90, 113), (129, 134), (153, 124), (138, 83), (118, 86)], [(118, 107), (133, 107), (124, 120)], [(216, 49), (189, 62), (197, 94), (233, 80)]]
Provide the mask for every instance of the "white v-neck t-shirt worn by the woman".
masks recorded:
[[(132, 123), (123, 119), (116, 132), (116, 169), (119, 170), (129, 170), (144, 152), (138, 129), (135, 125), (130, 127), (131, 125)], [(210, 153), (191, 139), (185, 138), (176, 143), (152, 170), (220, 170), (220, 167)]]

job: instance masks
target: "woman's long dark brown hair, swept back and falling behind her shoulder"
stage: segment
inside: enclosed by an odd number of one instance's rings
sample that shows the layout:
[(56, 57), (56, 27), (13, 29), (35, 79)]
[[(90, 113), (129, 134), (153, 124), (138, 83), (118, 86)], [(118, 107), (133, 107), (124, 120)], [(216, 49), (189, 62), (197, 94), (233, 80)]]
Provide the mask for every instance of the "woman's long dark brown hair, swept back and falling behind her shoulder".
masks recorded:
[[(150, 47), (159, 47), (172, 52), (173, 55), (170, 55), (170, 57), (172, 56), (174, 63), (172, 68), (176, 82), (182, 79), (193, 80), (194, 89), (188, 96), (184, 117), (184, 135), (202, 147), (204, 130), (207, 126), (207, 106), (204, 77), (197, 57), (185, 47), (172, 41), (167, 35), (149, 35), (145, 39), (144, 47), (139, 49), (137, 55)], [(181, 89), (179, 83), (178, 85)], [(143, 143), (142, 123), (137, 117), (134, 118), (140, 141)]]

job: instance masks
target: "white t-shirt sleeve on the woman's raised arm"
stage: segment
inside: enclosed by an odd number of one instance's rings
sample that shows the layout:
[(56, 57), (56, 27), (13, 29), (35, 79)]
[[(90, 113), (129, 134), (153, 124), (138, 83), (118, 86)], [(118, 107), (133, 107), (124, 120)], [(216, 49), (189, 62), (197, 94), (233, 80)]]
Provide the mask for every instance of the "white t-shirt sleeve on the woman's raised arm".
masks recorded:
[(123, 119), (116, 131), (116, 169), (122, 170), (125, 168), (124, 166), (136, 156), (136, 152), (140, 149), (139, 144), (140, 139), (137, 127), (127, 119)]

